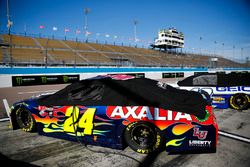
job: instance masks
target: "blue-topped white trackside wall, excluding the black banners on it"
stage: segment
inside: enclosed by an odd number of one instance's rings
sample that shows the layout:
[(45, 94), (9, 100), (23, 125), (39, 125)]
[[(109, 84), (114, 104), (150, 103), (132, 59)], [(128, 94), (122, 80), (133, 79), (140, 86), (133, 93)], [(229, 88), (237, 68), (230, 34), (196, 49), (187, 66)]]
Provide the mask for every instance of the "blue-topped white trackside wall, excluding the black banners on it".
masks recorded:
[[(226, 72), (249, 71), (250, 68), (228, 68), (228, 69), (207, 69), (207, 68), (0, 68), (0, 88), (12, 87), (12, 76), (50, 76), (50, 75), (79, 75), (80, 80), (106, 74), (143, 74), (145, 78), (163, 79), (163, 73), (175, 73), (174, 80), (186, 78), (197, 72)], [(181, 76), (178, 74), (183, 73)]]

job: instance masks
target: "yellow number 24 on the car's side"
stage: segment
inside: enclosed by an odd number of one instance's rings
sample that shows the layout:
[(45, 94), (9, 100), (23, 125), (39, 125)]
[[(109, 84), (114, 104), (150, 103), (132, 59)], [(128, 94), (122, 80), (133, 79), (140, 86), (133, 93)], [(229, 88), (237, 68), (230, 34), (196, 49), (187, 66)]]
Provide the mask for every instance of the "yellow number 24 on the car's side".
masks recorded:
[(93, 119), (96, 108), (88, 108), (78, 121), (80, 110), (78, 107), (69, 107), (66, 110), (65, 116), (68, 117), (63, 126), (65, 132), (76, 133), (77, 128), (83, 128), (84, 135), (92, 135)]

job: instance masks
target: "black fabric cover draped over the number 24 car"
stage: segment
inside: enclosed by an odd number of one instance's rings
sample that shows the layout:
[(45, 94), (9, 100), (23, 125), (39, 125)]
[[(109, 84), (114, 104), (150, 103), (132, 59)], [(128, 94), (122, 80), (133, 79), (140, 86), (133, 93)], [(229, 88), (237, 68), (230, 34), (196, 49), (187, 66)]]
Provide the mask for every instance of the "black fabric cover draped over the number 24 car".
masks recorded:
[(73, 83), (53, 95), (38, 99), (39, 105), (150, 106), (206, 115), (206, 100), (193, 91), (179, 90), (147, 78), (116, 80), (97, 77)]

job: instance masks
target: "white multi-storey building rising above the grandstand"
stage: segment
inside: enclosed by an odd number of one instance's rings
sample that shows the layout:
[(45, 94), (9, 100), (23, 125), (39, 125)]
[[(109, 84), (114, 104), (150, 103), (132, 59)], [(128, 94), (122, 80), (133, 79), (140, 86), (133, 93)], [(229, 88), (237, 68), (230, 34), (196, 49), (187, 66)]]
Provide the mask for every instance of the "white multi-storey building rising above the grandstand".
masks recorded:
[(178, 32), (174, 28), (163, 29), (158, 32), (158, 38), (155, 39), (153, 48), (159, 49), (173, 49), (184, 47), (184, 34)]

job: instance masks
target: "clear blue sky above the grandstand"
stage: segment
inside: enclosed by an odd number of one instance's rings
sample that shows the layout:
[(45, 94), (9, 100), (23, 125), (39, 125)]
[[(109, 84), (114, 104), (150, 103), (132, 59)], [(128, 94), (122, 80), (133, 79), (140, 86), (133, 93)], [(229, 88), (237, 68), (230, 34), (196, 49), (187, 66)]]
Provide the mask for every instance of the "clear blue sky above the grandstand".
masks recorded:
[[(133, 20), (138, 20), (137, 42), (148, 46), (157, 32), (175, 27), (185, 35), (183, 51), (250, 57), (250, 2), (247, 0), (9, 0), (11, 32), (84, 39), (84, 8), (89, 40), (131, 43)], [(6, 0), (0, 0), (0, 30), (7, 31)], [(43, 29), (39, 26), (43, 25)], [(53, 31), (53, 27), (57, 31)], [(25, 28), (26, 27), (26, 28)], [(76, 34), (79, 29), (81, 34)], [(97, 35), (99, 34), (99, 35)], [(105, 37), (105, 35), (109, 37)], [(117, 38), (115, 38), (115, 36)], [(201, 38), (200, 38), (201, 37)], [(215, 42), (216, 41), (216, 42)], [(223, 45), (224, 44), (224, 45)]]

